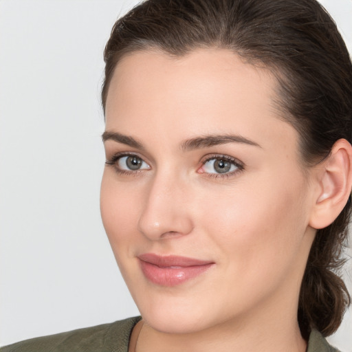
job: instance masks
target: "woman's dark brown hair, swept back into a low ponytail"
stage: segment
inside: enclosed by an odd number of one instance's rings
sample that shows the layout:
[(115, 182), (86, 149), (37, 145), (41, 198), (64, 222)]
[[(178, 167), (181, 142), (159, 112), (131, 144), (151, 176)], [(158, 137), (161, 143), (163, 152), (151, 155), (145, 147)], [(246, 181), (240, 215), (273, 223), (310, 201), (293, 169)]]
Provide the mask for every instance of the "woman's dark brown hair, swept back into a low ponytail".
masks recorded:
[[(279, 83), (281, 117), (300, 134), (309, 167), (340, 138), (352, 139), (352, 65), (336, 24), (315, 0), (148, 0), (119, 19), (104, 52), (105, 107), (122, 56), (156, 48), (182, 56), (199, 47), (232, 50), (264, 65)], [(300, 289), (298, 322), (329, 336), (351, 298), (339, 276), (344, 263), (351, 199), (339, 217), (318, 230)]]

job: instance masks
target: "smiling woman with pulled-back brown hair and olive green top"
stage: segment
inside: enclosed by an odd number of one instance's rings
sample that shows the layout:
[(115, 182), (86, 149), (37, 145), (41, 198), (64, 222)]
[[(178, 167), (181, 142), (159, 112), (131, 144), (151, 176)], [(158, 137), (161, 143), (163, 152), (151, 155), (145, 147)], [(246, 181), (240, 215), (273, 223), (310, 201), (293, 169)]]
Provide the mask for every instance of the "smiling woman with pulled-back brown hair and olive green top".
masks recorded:
[(314, 0), (149, 0), (104, 54), (104, 228), (141, 318), (3, 351), (336, 351), (352, 66)]

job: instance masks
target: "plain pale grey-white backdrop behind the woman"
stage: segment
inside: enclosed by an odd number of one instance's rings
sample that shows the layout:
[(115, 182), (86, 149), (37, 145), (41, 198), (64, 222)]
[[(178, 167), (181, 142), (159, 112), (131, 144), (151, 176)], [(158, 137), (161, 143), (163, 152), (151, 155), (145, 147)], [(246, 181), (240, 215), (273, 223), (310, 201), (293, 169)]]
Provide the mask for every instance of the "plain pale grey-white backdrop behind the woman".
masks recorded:
[[(0, 0), (0, 345), (138, 314), (99, 210), (102, 51), (135, 3)], [(322, 3), (352, 52), (352, 0)], [(350, 312), (330, 341), (352, 352)]]

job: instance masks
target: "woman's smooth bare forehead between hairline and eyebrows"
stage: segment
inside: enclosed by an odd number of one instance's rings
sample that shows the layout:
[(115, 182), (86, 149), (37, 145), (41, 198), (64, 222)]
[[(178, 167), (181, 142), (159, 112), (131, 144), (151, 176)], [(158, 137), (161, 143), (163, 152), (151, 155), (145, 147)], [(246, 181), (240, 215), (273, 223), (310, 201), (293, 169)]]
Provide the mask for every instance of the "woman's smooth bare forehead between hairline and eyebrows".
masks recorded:
[(165, 143), (209, 133), (274, 140), (281, 129), (292, 129), (274, 108), (276, 85), (269, 69), (229, 50), (195, 50), (177, 58), (134, 52), (115, 68), (107, 129)]

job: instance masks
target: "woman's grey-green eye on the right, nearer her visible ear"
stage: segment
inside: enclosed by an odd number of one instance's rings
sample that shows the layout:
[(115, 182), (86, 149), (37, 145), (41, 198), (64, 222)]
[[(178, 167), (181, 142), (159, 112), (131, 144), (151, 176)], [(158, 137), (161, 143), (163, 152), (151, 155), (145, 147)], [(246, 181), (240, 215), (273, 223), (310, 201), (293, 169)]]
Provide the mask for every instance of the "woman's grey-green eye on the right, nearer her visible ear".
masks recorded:
[(199, 169), (199, 173), (209, 174), (232, 174), (236, 171), (243, 170), (243, 164), (238, 162), (233, 157), (227, 155), (219, 155), (211, 157), (203, 162), (203, 166)]

